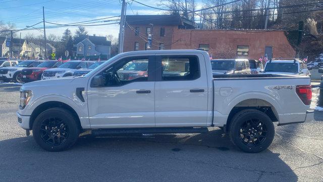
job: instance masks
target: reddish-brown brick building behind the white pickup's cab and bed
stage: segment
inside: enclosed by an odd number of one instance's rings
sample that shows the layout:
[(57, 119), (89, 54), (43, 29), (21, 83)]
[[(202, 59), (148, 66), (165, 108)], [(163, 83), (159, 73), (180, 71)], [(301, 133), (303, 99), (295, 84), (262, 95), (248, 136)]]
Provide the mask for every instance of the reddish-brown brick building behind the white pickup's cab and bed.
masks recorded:
[[(126, 17), (124, 52), (159, 49), (204, 49), (213, 58), (293, 58), (295, 50), (284, 31), (195, 29), (195, 24), (175, 15), (134, 15)], [(151, 25), (153, 24), (153, 26)]]

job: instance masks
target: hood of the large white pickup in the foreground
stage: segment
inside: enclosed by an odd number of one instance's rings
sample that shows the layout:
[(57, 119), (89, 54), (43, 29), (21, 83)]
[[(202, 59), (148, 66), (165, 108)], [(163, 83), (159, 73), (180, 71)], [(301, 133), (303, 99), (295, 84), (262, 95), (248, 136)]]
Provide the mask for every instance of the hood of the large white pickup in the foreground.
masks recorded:
[(33, 82), (23, 84), (21, 86), (21, 89), (33, 90), (33, 89), (37, 89), (38, 87), (66, 86), (66, 85), (69, 85), (69, 83), (71, 83), (74, 79), (75, 79), (74, 77), (64, 77), (64, 78), (60, 78), (60, 79), (33, 81)]

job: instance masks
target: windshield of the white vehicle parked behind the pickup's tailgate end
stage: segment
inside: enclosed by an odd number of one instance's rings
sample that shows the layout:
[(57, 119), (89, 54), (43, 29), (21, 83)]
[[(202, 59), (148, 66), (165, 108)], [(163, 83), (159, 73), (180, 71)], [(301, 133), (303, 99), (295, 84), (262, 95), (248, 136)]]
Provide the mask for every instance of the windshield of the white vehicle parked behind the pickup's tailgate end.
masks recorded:
[(298, 65), (297, 63), (267, 63), (264, 71), (298, 73)]

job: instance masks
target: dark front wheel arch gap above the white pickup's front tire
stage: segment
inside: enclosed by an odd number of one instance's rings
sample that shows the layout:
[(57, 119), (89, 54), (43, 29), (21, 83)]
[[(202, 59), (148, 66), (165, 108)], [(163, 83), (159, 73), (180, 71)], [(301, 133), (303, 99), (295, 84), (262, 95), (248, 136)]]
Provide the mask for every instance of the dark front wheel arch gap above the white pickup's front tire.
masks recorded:
[(64, 108), (64, 109), (70, 111), (73, 114), (73, 116), (75, 117), (75, 119), (77, 120), (77, 125), (79, 126), (79, 129), (82, 129), (81, 121), (80, 121), (80, 118), (79, 118), (77, 112), (68, 104), (65, 104), (65, 103), (59, 102), (59, 101), (48, 101), (48, 102), (44, 102), (44, 103), (38, 105), (31, 113), (30, 121), (29, 121), (29, 128), (32, 129), (33, 123), (34, 123), (36, 117), (40, 113), (42, 113), (43, 111), (45, 111), (47, 109), (55, 108), (55, 107)]

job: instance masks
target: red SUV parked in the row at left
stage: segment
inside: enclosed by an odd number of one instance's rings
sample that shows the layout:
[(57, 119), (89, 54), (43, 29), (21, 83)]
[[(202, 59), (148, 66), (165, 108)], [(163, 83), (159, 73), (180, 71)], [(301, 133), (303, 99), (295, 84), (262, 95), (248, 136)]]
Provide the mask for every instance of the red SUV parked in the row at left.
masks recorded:
[[(49, 68), (57, 68), (62, 65), (61, 61), (44, 61), (37, 67), (24, 68), (21, 70), (21, 79), (23, 82), (41, 80), (42, 73)], [(20, 76), (19, 75), (19, 76)]]

